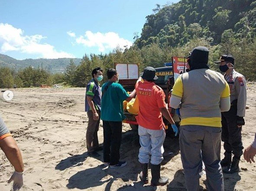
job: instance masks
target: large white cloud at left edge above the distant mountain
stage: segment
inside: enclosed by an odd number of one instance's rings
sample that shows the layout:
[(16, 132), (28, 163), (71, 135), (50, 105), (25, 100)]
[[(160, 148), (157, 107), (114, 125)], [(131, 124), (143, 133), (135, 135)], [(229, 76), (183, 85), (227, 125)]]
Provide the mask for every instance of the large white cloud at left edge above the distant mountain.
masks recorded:
[(40, 34), (25, 36), (24, 31), (12, 25), (0, 23), (0, 52), (20, 51), (22, 53), (40, 54), (42, 58), (73, 58), (72, 54), (57, 51), (54, 46), (40, 43), (46, 37)]

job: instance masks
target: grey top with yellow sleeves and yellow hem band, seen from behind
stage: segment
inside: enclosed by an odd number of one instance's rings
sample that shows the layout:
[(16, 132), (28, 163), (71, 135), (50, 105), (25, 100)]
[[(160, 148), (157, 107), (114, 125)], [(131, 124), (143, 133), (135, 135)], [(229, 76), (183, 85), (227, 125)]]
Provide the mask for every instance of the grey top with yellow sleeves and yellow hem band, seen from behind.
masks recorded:
[(181, 99), (181, 125), (221, 127), (220, 99), (230, 99), (223, 75), (195, 69), (175, 81), (172, 96)]

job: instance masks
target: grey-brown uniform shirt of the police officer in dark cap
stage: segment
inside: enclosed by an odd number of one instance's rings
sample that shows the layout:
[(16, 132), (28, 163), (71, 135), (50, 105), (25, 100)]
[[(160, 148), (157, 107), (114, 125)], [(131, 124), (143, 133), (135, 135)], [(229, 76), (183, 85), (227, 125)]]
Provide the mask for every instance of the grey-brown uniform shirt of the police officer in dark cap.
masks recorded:
[(237, 100), (237, 116), (244, 117), (246, 109), (246, 79), (233, 69), (229, 75), (224, 74), (230, 88), (230, 103)]

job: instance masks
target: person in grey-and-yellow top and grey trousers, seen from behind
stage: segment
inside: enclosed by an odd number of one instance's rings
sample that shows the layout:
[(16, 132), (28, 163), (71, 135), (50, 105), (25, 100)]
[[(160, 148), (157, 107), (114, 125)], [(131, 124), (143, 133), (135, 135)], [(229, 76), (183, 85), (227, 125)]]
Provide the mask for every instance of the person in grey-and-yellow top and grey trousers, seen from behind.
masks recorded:
[(180, 107), (180, 150), (188, 191), (199, 190), (199, 171), (204, 161), (207, 188), (224, 191), (220, 166), (221, 112), (230, 109), (229, 86), (223, 75), (209, 69), (209, 50), (195, 47), (190, 71), (175, 81), (170, 104)]

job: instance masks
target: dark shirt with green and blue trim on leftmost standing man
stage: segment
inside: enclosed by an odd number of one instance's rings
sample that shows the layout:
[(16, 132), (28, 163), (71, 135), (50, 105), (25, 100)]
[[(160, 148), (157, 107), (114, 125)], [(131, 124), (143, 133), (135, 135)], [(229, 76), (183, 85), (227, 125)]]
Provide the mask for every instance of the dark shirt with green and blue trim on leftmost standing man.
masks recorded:
[(95, 81), (95, 79), (91, 79), (91, 81), (87, 84), (86, 93), (85, 93), (85, 111), (88, 112), (91, 110), (89, 103), (87, 101), (87, 96), (92, 97), (94, 106), (96, 110), (101, 110), (101, 90), (99, 82)]

